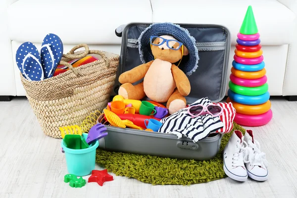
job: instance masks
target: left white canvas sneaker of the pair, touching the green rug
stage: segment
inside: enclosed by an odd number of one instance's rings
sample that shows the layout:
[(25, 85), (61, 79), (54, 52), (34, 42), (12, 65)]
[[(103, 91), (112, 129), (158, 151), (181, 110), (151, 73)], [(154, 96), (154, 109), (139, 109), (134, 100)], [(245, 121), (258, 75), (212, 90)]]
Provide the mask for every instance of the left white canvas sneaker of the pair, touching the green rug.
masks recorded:
[(244, 150), (244, 136), (241, 131), (235, 130), (224, 148), (224, 171), (230, 178), (240, 182), (247, 181)]

